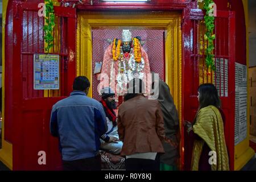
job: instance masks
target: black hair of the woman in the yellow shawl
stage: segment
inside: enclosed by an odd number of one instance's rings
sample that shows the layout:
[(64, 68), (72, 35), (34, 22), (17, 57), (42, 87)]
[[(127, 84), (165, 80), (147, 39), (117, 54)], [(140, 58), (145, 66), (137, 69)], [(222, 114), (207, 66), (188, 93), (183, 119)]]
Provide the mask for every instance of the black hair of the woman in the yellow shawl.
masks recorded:
[(209, 105), (220, 107), (220, 97), (218, 97), (218, 91), (213, 84), (201, 84), (198, 88), (198, 92), (200, 94), (200, 109)]

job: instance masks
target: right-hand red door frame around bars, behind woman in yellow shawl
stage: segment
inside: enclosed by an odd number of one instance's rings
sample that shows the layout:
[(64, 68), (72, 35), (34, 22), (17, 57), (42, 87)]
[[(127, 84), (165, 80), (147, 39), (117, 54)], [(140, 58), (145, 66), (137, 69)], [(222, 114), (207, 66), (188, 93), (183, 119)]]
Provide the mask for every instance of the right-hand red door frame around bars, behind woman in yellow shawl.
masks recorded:
[[(190, 11), (190, 13), (189, 13)], [(186, 13), (186, 11), (184, 11)], [(189, 15), (190, 14), (190, 15)], [(183, 110), (184, 120), (193, 121), (197, 108), (197, 87), (199, 86), (199, 51), (197, 50), (197, 27), (199, 20), (203, 19), (200, 15), (195, 16), (191, 10), (188, 10), (187, 16), (183, 22)], [(216, 19), (225, 19), (216, 23), (216, 58), (228, 59), (228, 97), (220, 97), (222, 109), (224, 110), (225, 139), (229, 152), (230, 169), (234, 170), (234, 102), (235, 102), (235, 16), (232, 11), (217, 11)], [(223, 23), (223, 22), (226, 22)], [(218, 44), (217, 44), (218, 40)], [(224, 43), (226, 42), (226, 43)], [(218, 50), (218, 51), (217, 51)], [(227, 50), (227, 51), (225, 51)], [(224, 82), (225, 84), (225, 82)], [(189, 89), (186, 89), (189, 88)], [(224, 89), (225, 92), (225, 89)], [(184, 129), (183, 129), (184, 130)], [(184, 169), (191, 168), (191, 156), (193, 140), (191, 135), (183, 132), (184, 142)]]

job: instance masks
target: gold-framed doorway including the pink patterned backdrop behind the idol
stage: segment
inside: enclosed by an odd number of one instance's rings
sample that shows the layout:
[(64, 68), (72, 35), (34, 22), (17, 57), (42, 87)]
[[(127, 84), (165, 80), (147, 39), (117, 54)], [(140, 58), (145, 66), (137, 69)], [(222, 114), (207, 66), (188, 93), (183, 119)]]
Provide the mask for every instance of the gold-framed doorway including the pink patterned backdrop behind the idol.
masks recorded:
[(121, 38), (122, 30), (129, 29), (133, 37), (141, 36), (144, 40), (143, 48), (148, 54), (151, 72), (158, 73), (159, 78), (170, 86), (181, 130), (181, 14), (89, 11), (79, 13), (77, 19), (76, 74), (88, 77), (93, 83), (89, 97), (100, 99), (97, 92), (100, 81), (93, 75), (93, 68), (96, 62), (103, 60), (106, 47), (109, 46), (107, 40)]

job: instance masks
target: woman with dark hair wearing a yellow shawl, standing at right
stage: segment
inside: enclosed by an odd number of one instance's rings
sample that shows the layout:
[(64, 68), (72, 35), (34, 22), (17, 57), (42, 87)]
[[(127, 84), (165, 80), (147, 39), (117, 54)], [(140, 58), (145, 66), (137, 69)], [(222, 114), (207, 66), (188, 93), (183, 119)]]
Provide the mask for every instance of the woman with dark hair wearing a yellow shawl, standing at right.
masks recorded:
[(224, 137), (224, 114), (213, 84), (198, 89), (199, 109), (193, 125), (185, 121), (188, 133), (195, 134), (191, 169), (193, 171), (229, 170), (229, 158)]

